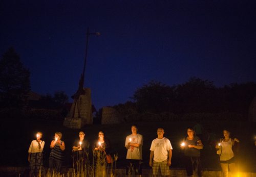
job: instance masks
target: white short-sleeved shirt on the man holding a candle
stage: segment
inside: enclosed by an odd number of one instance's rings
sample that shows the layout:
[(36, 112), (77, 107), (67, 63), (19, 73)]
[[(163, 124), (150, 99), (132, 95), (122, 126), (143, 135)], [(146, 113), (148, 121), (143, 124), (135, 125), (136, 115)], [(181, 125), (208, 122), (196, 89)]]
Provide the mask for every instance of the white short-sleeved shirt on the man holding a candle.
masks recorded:
[(124, 146), (126, 146), (128, 142), (130, 142), (130, 138), (131, 138), (131, 143), (140, 144), (140, 146), (139, 147), (130, 146), (130, 148), (127, 149), (126, 159), (142, 160), (143, 136), (140, 134), (136, 134), (136, 135), (131, 134), (127, 136), (125, 139)]

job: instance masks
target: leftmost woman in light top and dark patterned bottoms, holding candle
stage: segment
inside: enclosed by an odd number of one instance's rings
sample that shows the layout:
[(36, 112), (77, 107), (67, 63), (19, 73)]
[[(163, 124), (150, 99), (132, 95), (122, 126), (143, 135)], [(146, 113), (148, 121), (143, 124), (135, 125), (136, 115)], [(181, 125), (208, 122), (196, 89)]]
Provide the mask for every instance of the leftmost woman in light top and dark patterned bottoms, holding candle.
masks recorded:
[(41, 140), (42, 133), (36, 133), (36, 140), (31, 141), (29, 146), (29, 166), (30, 166), (30, 176), (37, 176), (42, 166), (42, 150), (45, 146), (45, 141)]

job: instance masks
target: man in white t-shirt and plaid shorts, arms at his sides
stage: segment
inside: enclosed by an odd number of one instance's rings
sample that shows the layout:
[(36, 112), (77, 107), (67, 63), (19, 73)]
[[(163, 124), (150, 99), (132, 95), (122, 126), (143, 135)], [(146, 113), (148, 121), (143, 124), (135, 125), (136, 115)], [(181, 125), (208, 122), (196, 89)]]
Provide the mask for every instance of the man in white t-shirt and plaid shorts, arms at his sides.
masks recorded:
[(173, 147), (172, 144), (170, 144), (170, 141), (163, 137), (163, 135), (164, 130), (162, 128), (158, 128), (157, 138), (152, 141), (150, 147), (150, 166), (153, 169), (154, 176), (159, 176), (159, 168), (161, 170), (161, 175), (170, 175), (169, 166), (172, 163), (171, 160)]

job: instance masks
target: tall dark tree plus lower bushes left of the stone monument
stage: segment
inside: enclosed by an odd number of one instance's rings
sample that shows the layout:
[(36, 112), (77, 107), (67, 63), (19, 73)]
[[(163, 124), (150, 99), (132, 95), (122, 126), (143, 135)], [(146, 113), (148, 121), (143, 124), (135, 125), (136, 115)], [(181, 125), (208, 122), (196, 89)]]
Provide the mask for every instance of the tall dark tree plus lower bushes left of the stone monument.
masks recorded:
[(61, 109), (68, 102), (63, 91), (40, 95), (38, 100), (29, 100), (30, 92), (30, 71), (10, 47), (0, 60), (0, 110)]

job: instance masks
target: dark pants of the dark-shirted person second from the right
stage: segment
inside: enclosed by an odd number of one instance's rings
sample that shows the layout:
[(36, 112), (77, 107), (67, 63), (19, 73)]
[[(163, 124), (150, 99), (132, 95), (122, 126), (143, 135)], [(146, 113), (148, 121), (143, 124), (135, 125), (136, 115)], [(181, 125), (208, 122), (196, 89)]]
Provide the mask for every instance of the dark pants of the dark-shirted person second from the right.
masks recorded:
[(193, 175), (193, 170), (197, 171), (198, 176), (202, 176), (200, 157), (184, 157), (187, 175)]

